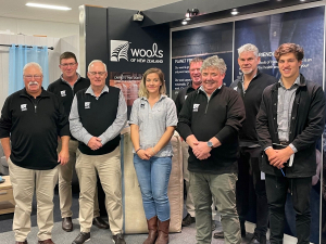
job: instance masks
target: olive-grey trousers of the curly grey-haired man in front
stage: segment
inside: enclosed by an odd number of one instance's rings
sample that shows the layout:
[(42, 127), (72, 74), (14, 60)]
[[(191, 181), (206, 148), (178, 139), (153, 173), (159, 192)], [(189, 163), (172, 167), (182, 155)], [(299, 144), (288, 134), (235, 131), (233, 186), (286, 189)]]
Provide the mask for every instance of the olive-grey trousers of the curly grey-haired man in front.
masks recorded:
[(236, 174), (190, 172), (198, 244), (210, 244), (212, 241), (212, 197), (221, 214), (225, 243), (241, 243), (240, 222), (236, 208)]

